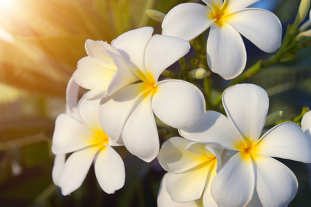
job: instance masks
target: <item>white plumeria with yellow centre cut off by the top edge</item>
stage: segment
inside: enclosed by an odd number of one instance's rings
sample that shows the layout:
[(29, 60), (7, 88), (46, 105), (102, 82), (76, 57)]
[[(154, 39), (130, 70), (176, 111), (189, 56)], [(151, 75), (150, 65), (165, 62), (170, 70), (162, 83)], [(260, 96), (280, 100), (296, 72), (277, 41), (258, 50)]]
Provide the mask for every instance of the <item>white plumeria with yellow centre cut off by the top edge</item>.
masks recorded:
[(246, 8), (259, 0), (202, 0), (182, 3), (170, 10), (162, 22), (162, 34), (191, 40), (210, 28), (207, 63), (224, 79), (241, 74), (246, 50), (239, 33), (265, 52), (281, 46), (279, 19), (267, 10)]

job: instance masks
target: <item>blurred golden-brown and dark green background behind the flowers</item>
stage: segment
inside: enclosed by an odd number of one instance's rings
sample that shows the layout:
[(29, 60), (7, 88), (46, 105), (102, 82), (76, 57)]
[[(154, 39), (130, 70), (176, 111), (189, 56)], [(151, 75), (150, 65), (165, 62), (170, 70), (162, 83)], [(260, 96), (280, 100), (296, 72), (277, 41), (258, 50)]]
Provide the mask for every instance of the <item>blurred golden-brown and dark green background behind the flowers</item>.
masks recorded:
[[(145, 10), (167, 13), (183, 2), (0, 0), (0, 206), (156, 206), (164, 175), (157, 160), (147, 164), (125, 148), (117, 148), (126, 166), (122, 189), (106, 195), (91, 168), (81, 188), (63, 197), (51, 178), (54, 155), (50, 146), (55, 118), (65, 110), (66, 84), (77, 61), (86, 56), (86, 39), (110, 43), (142, 26), (153, 26), (160, 33), (160, 23), (149, 19)], [(274, 12), (285, 31), (299, 3), (262, 0), (254, 6)], [(244, 40), (247, 66), (269, 57)], [(267, 90), (270, 112), (283, 110), (283, 118), (292, 119), (303, 106), (311, 108), (310, 57), (311, 48), (305, 48), (297, 52), (296, 59), (264, 68), (247, 80)], [(216, 95), (227, 84), (218, 75), (212, 75), (211, 81)], [(159, 126), (159, 132), (161, 142), (177, 135), (165, 126)], [(290, 206), (310, 206), (310, 164), (281, 161), (299, 180)]]

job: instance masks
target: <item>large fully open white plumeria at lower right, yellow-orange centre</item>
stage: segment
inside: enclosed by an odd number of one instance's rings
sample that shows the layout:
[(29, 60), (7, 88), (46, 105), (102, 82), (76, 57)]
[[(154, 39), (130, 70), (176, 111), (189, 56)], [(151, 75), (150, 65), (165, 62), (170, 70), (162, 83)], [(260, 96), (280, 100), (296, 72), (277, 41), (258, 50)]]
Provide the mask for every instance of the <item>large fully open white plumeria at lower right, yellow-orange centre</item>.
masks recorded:
[(187, 139), (217, 141), (236, 151), (211, 184), (218, 206), (246, 206), (256, 194), (263, 206), (287, 206), (296, 195), (298, 181), (288, 167), (271, 157), (310, 163), (310, 139), (293, 122), (279, 124), (261, 137), (269, 99), (259, 86), (227, 88), (223, 106), (228, 117), (207, 111), (194, 126), (180, 130)]

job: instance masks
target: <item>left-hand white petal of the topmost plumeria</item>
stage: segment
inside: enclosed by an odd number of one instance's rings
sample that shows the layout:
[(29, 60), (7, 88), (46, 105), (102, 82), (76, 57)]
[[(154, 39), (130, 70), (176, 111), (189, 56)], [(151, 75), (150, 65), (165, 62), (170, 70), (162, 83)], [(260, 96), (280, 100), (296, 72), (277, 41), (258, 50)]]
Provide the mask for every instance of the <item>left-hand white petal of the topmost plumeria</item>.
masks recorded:
[(172, 8), (162, 22), (162, 34), (191, 40), (207, 30), (214, 21), (211, 10), (199, 3), (181, 3)]

